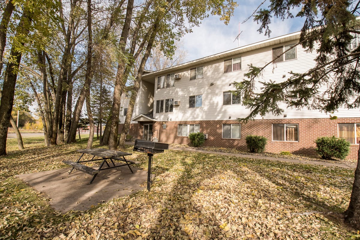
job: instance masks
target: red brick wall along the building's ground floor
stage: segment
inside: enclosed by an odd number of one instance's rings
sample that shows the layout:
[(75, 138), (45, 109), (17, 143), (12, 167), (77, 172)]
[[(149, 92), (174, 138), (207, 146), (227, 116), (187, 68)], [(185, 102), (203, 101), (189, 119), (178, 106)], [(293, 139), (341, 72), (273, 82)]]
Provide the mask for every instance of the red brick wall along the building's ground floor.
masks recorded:
[[(200, 124), (200, 131), (208, 134), (204, 146), (231, 147), (246, 150), (245, 137), (247, 135), (261, 135), (267, 138), (265, 151), (279, 153), (289, 151), (298, 154), (316, 154), (315, 139), (321, 136), (338, 136), (338, 123), (359, 123), (360, 118), (338, 118), (336, 120), (314, 118), (314, 119), (264, 119), (249, 121), (241, 124), (241, 139), (223, 139), (222, 124), (237, 124), (236, 120), (229, 121), (166, 121), (166, 129), (163, 122), (156, 122), (153, 126), (153, 136), (159, 142), (174, 144), (189, 144), (188, 137), (177, 136), (177, 124)], [(298, 142), (272, 141), (273, 123), (296, 123), (298, 124)], [(133, 124), (135, 125), (135, 124)], [(136, 128), (134, 127), (134, 130)], [(143, 125), (138, 124), (138, 137), (142, 137)], [(131, 134), (132, 135), (132, 134)], [(352, 144), (348, 158), (357, 158), (359, 145)]]

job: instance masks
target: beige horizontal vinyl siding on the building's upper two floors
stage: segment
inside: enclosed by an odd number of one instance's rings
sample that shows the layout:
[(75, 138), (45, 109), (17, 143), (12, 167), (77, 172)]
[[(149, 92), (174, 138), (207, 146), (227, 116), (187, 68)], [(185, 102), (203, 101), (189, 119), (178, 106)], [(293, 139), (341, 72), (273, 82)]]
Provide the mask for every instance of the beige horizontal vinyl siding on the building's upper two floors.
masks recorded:
[[(214, 62), (203, 65), (203, 78), (190, 80), (190, 68), (183, 69), (182, 71), (176, 71), (175, 73), (181, 74), (180, 80), (175, 80), (175, 87), (157, 89), (157, 77), (155, 78), (155, 97), (154, 97), (154, 118), (158, 121), (167, 121), (171, 118), (172, 121), (195, 121), (195, 120), (227, 120), (243, 118), (248, 116), (250, 110), (242, 106), (241, 104), (234, 105), (222, 105), (222, 92), (235, 90), (233, 84), (234, 81), (242, 81), (244, 73), (248, 72), (249, 64), (253, 64), (257, 67), (262, 67), (266, 63), (270, 63), (272, 60), (272, 48), (276, 46), (282, 46), (292, 44), (292, 42), (284, 42), (279, 45), (250, 51), (242, 55), (234, 55), (233, 57), (242, 56), (242, 69), (239, 71), (233, 71), (223, 73), (224, 60), (219, 59)], [(262, 76), (257, 81), (284, 81), (291, 76), (289, 72), (302, 73), (308, 69), (314, 67), (315, 62), (313, 59), (316, 57), (316, 52), (306, 53), (305, 49), (301, 46), (297, 46), (297, 58), (279, 62), (276, 64), (270, 63), (264, 70)], [(201, 65), (199, 65), (201, 66)], [(192, 67), (193, 68), (193, 67)], [(164, 74), (165, 75), (165, 74)], [(283, 77), (285, 75), (285, 77)], [(162, 76), (162, 75), (159, 75)], [(214, 83), (210, 85), (210, 83)], [(258, 91), (261, 91), (261, 85), (257, 83), (255, 85)], [(189, 96), (202, 95), (202, 107), (189, 108)], [(179, 106), (174, 106), (174, 110), (171, 113), (155, 113), (156, 100), (173, 98), (174, 101), (180, 101)], [(264, 119), (284, 118), (328, 118), (329, 115), (321, 113), (318, 110), (307, 109), (291, 109), (287, 108), (285, 104), (282, 105), (284, 113), (281, 116), (274, 116), (273, 114), (267, 114)], [(339, 112), (334, 113), (338, 117), (349, 116), (349, 113), (355, 114), (356, 110), (343, 110), (339, 109)], [(358, 110), (356, 111), (356, 116)], [(262, 119), (261, 116), (257, 116), (257, 119)]]

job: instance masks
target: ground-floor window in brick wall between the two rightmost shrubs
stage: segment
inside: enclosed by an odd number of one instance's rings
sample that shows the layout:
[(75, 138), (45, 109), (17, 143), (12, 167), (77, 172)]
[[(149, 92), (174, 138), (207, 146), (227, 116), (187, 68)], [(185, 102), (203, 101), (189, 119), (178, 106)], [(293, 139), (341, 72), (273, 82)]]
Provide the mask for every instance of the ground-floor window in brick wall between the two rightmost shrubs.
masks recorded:
[(273, 141), (299, 140), (298, 124), (273, 124)]

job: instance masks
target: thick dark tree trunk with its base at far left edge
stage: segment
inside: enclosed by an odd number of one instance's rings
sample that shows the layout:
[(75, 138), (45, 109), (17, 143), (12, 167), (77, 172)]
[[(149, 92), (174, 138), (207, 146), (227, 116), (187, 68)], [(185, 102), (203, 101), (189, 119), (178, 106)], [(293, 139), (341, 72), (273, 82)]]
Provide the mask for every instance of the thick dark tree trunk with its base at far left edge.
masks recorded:
[[(27, 37), (32, 22), (31, 16), (32, 13), (25, 9), (17, 27), (16, 36), (22, 35), (23, 38)], [(22, 45), (24, 45), (24, 42), (22, 42)], [(22, 53), (18, 47), (12, 46), (10, 57), (13, 58), (13, 61), (6, 65), (3, 92), (0, 100), (0, 155), (6, 155), (6, 138), (8, 135), (11, 111), (13, 109), (15, 83), (21, 56)]]

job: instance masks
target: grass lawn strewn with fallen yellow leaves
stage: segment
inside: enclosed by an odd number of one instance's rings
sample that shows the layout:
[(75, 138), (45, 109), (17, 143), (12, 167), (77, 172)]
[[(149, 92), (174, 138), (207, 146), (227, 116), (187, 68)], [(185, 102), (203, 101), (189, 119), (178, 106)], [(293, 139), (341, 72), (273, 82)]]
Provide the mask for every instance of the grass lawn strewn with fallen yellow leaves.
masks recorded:
[[(166, 150), (153, 184), (84, 212), (54, 211), (16, 174), (68, 167), (76, 144), (46, 148), (43, 138), (8, 140), (0, 157), (0, 239), (356, 239), (342, 224), (353, 169)], [(99, 147), (94, 142), (94, 148)], [(147, 155), (129, 159), (147, 168)]]

